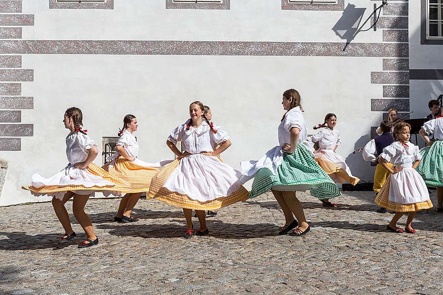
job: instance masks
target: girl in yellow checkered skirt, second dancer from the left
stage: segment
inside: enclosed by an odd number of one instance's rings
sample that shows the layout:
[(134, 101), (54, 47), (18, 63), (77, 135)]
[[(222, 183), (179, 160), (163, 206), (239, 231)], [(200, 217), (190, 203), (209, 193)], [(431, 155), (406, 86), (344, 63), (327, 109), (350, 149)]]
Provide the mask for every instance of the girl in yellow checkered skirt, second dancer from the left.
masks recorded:
[(131, 191), (120, 201), (119, 210), (114, 217), (117, 222), (135, 222), (138, 218), (131, 216), (132, 209), (137, 204), (143, 192), (149, 190), (152, 177), (154, 177), (159, 163), (151, 164), (137, 159), (138, 143), (135, 136), (138, 122), (134, 115), (126, 115), (123, 119), (123, 128), (119, 132), (119, 140), (116, 143), (117, 152), (110, 157), (110, 163), (103, 166), (112, 176), (119, 177), (131, 184)]

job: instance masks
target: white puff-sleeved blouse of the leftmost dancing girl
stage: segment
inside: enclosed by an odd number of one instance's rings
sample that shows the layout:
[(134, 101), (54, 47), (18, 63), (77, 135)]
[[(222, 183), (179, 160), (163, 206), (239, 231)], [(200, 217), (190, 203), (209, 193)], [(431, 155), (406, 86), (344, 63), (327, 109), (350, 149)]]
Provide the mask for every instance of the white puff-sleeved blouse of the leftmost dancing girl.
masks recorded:
[(84, 162), (88, 157), (86, 150), (96, 146), (95, 142), (86, 134), (69, 133), (66, 136), (66, 157), (71, 165)]

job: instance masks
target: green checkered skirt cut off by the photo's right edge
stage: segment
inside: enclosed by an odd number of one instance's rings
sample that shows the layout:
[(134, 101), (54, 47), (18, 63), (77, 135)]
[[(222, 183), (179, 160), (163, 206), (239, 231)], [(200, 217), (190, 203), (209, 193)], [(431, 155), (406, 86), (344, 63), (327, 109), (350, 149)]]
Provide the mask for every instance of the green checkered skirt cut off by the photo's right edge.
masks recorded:
[(431, 147), (421, 151), (421, 162), (417, 172), (429, 187), (443, 186), (443, 140), (435, 141)]

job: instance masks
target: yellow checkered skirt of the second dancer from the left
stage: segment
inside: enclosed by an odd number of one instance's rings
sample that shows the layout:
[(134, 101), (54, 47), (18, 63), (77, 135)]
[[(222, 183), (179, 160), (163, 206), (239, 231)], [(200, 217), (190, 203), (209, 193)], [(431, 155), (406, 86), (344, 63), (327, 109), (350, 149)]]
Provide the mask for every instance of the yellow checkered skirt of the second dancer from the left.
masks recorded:
[(123, 179), (131, 184), (131, 191), (127, 193), (141, 193), (149, 190), (152, 178), (158, 173), (158, 168), (145, 167), (119, 156), (114, 166), (109, 164), (103, 169), (110, 175)]

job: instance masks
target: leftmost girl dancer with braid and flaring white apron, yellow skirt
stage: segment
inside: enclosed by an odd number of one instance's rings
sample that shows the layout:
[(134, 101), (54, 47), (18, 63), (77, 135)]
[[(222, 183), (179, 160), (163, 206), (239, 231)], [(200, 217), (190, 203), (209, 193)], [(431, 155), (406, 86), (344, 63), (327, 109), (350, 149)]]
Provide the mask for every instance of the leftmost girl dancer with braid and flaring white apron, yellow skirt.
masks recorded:
[(38, 174), (32, 176), (32, 186), (24, 186), (35, 196), (53, 196), (52, 206), (62, 223), (64, 235), (58, 243), (73, 239), (76, 234), (72, 230), (69, 215), (64, 204), (71, 198), (72, 211), (75, 219), (87, 235), (78, 248), (86, 248), (98, 244), (91, 219), (85, 213), (85, 205), (95, 191), (103, 193), (125, 192), (130, 184), (114, 177), (93, 163), (98, 154), (95, 142), (82, 129), (82, 111), (72, 107), (64, 113), (63, 123), (70, 133), (66, 137), (66, 156), (69, 164), (51, 178), (43, 178)]

